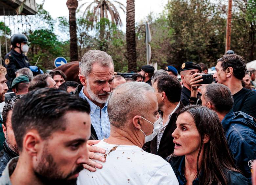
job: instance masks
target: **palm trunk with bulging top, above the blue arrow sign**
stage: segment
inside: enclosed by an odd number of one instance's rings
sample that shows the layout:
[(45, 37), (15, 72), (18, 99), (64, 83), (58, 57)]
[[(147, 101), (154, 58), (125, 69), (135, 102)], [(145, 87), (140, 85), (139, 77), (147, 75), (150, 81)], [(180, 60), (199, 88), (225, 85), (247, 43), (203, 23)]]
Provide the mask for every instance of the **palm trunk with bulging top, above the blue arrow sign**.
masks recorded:
[(69, 34), (70, 34), (70, 62), (78, 61), (77, 37), (76, 37), (76, 20), (75, 10), (78, 7), (77, 0), (67, 0), (69, 9)]

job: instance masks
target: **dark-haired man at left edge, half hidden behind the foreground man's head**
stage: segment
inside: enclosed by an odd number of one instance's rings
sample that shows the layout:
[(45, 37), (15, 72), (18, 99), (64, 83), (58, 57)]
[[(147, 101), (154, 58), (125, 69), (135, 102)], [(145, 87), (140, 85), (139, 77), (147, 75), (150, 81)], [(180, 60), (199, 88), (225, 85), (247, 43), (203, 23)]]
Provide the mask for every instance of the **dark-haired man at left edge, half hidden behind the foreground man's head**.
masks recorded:
[(6, 140), (4, 141), (4, 149), (0, 152), (0, 177), (7, 165), (13, 158), (19, 156), (18, 147), (15, 141), (14, 133), (11, 126), (12, 109), (16, 102), (20, 100), (23, 95), (14, 96), (9, 100), (3, 108), (3, 131)]

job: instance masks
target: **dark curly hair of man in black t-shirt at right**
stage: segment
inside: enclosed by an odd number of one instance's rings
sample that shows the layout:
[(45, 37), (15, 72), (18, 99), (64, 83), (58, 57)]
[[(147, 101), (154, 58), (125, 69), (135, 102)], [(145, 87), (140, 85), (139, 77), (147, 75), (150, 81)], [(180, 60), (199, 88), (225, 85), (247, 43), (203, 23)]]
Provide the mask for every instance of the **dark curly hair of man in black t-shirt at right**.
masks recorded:
[(245, 77), (246, 65), (243, 57), (237, 54), (223, 55), (217, 62), (222, 62), (221, 66), (223, 71), (228, 67), (233, 68), (233, 75), (239, 80), (243, 80)]

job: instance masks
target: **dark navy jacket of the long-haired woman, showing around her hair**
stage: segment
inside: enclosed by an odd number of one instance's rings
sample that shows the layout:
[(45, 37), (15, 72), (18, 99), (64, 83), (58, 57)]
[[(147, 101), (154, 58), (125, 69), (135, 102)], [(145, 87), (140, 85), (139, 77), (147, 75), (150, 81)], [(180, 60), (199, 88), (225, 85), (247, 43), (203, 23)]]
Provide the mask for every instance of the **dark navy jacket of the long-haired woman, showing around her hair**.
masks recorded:
[[(179, 181), (180, 185), (185, 185), (187, 183), (187, 180), (184, 176), (184, 166), (185, 166), (185, 156), (177, 156), (177, 157), (169, 157), (169, 163), (172, 166), (172, 169)], [(200, 176), (203, 176), (204, 173), (201, 172)], [(227, 178), (227, 184), (228, 185), (247, 185), (248, 181), (247, 179), (240, 173), (227, 170), (225, 173), (225, 176)], [(192, 185), (199, 185), (199, 178), (196, 178), (193, 180)], [(212, 184), (214, 185), (214, 184)]]

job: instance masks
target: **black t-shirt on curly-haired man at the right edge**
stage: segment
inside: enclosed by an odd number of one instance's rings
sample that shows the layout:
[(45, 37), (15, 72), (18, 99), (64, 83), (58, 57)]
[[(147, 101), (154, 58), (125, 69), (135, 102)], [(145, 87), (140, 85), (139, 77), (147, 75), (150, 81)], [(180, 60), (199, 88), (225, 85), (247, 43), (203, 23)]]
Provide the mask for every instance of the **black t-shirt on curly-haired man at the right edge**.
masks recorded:
[(242, 111), (256, 118), (256, 92), (249, 89), (241, 89), (233, 95), (234, 112)]

